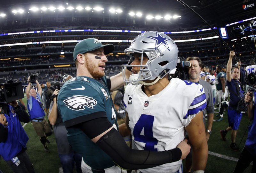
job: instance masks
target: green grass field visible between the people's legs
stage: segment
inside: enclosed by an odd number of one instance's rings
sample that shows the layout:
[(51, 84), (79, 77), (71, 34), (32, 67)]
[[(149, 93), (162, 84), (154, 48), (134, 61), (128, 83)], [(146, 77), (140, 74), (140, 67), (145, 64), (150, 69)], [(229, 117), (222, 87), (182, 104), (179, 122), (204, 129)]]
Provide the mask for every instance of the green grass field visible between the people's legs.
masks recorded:
[[(25, 104), (27, 104), (26, 99), (23, 99), (23, 101)], [(244, 148), (244, 144), (245, 144), (247, 133), (248, 133), (247, 126), (249, 124), (249, 120), (247, 117), (247, 112), (244, 113), (242, 116), (242, 120), (241, 120), (237, 137), (236, 137), (236, 144), (238, 145), (241, 142), (241, 144), (239, 145), (239, 148), (240, 148), (239, 151), (233, 151), (232, 149), (229, 148), (229, 145), (231, 143), (230, 131), (226, 136), (226, 139), (227, 139), (226, 141), (222, 141), (221, 139), (220, 130), (225, 129), (228, 126), (227, 111), (224, 113), (225, 114), (224, 114), (223, 121), (213, 122), (213, 126), (212, 126), (213, 133), (211, 134), (210, 139), (208, 141), (209, 152), (238, 159), (242, 149)], [(216, 114), (217, 113), (215, 113), (215, 115)], [(216, 117), (214, 117), (214, 119), (216, 119)], [(24, 123), (22, 123), (22, 125), (23, 124)], [(51, 152), (46, 153), (44, 152), (43, 145), (39, 141), (39, 138), (36, 135), (36, 132), (33, 126), (31, 125), (31, 123), (28, 123), (24, 127), (24, 129), (29, 137), (29, 141), (27, 143), (27, 148), (28, 148), (27, 153), (30, 157), (31, 162), (34, 165), (35, 171), (37, 173), (45, 173), (45, 172), (58, 173), (59, 168), (61, 167), (61, 164), (60, 164), (59, 155), (57, 153), (57, 145), (54, 138), (54, 133), (50, 137), (48, 137), (51, 143), (47, 145)], [(235, 166), (236, 166), (235, 161), (209, 154), (205, 173), (216, 173), (216, 172), (232, 173)], [(12, 170), (7, 166), (3, 158), (0, 159), (0, 169), (4, 173), (12, 172)], [(250, 165), (247, 169), (245, 169), (244, 173), (250, 173), (251, 169), (252, 169), (252, 165)]]

